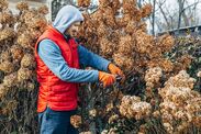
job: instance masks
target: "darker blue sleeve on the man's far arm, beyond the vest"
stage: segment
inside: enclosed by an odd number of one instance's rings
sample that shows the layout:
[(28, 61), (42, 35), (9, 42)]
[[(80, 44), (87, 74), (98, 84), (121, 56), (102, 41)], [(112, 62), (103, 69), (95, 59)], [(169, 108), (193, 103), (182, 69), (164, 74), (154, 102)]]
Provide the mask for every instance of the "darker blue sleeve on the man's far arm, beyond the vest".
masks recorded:
[(103, 57), (88, 51), (86, 47), (79, 45), (79, 63), (83, 67), (93, 67), (99, 70), (108, 71), (108, 66), (111, 62), (104, 59)]

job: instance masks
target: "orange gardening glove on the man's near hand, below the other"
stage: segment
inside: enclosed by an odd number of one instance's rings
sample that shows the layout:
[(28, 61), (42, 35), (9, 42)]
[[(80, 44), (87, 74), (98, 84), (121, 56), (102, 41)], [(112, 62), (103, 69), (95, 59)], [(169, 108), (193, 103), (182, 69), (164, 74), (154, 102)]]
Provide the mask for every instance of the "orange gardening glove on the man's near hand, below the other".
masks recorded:
[(101, 81), (103, 83), (103, 87), (105, 88), (115, 82), (115, 76), (103, 71), (99, 71), (99, 81)]

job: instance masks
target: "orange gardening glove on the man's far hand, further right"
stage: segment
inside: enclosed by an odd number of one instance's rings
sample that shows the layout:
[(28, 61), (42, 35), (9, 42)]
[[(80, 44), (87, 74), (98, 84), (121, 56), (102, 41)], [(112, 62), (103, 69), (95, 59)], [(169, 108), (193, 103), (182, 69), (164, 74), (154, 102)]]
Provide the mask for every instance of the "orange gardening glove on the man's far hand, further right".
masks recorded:
[(116, 76), (121, 76), (122, 80), (121, 82), (123, 82), (125, 80), (125, 75), (123, 74), (123, 71), (116, 67), (114, 64), (109, 64), (109, 70), (112, 75), (116, 75)]

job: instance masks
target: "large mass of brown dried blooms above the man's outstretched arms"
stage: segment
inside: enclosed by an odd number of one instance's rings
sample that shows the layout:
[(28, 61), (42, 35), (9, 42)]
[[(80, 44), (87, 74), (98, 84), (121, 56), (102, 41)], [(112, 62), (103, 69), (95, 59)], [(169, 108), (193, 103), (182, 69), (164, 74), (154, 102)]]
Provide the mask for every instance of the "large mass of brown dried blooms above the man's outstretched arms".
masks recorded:
[(139, 9), (136, 0), (123, 0), (122, 4), (119, 0), (99, 0), (99, 3), (94, 13), (83, 14), (85, 22), (78, 37), (87, 40), (87, 47), (113, 58), (125, 72), (158, 65), (158, 60), (165, 71), (172, 70), (174, 65), (163, 54), (170, 51), (175, 40), (170, 35), (157, 38), (148, 35), (142, 21), (152, 13), (150, 4)]

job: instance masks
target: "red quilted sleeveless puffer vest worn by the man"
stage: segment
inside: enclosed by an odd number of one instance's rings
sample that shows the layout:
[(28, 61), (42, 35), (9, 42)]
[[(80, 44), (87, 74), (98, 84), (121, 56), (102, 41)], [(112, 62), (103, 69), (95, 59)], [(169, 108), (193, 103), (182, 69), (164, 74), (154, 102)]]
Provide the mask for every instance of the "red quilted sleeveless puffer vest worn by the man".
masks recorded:
[(78, 83), (60, 80), (40, 58), (37, 45), (45, 38), (53, 41), (60, 48), (62, 55), (69, 67), (79, 68), (78, 46), (75, 40), (67, 42), (62, 33), (53, 26), (48, 26), (35, 44), (36, 72), (40, 82), (37, 112), (43, 112), (46, 107), (55, 111), (75, 110), (77, 108)]

